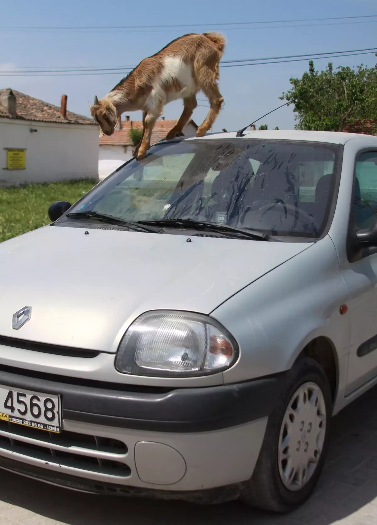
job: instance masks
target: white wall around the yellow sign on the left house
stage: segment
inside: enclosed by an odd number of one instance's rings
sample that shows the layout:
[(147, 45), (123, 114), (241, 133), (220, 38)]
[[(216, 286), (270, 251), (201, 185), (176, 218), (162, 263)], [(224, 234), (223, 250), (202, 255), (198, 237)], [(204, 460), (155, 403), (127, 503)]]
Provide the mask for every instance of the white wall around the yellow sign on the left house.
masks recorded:
[[(0, 185), (98, 178), (98, 135), (94, 125), (0, 118)], [(26, 149), (26, 169), (3, 170), (4, 148)]]

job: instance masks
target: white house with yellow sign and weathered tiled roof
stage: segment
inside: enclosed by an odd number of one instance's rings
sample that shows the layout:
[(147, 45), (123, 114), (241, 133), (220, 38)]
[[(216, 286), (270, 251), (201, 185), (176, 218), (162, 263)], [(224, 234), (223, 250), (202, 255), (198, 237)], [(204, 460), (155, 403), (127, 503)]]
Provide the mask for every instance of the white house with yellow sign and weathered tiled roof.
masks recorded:
[(0, 186), (98, 178), (98, 124), (12, 89), (0, 89)]

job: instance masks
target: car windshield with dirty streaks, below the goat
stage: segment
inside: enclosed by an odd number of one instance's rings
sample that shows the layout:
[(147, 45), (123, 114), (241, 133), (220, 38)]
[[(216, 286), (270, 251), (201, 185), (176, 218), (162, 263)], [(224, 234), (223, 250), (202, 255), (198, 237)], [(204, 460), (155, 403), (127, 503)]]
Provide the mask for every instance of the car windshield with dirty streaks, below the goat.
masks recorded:
[(134, 222), (192, 219), (318, 238), (328, 225), (340, 151), (338, 145), (281, 140), (159, 144), (141, 162), (120, 167), (70, 213)]

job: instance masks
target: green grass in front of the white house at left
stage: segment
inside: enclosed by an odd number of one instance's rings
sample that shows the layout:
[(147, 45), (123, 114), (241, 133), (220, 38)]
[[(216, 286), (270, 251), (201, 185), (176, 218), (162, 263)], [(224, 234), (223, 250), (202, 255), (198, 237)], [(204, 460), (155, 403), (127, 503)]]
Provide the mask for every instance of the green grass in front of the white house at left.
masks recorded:
[(95, 184), (95, 179), (81, 179), (0, 188), (0, 243), (49, 224), (51, 203), (69, 201), (74, 204)]

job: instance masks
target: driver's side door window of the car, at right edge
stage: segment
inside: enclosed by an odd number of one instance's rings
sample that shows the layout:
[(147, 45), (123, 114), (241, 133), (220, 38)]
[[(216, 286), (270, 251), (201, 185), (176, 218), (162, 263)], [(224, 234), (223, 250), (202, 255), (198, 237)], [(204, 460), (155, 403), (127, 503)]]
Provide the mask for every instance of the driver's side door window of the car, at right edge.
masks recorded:
[(356, 226), (371, 226), (377, 217), (377, 152), (361, 153), (356, 159), (353, 208)]

